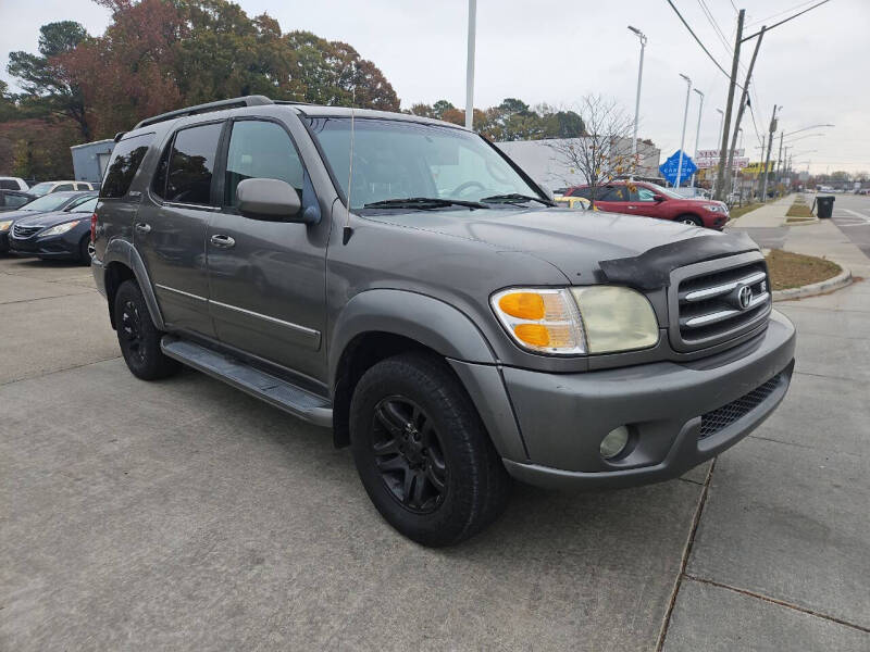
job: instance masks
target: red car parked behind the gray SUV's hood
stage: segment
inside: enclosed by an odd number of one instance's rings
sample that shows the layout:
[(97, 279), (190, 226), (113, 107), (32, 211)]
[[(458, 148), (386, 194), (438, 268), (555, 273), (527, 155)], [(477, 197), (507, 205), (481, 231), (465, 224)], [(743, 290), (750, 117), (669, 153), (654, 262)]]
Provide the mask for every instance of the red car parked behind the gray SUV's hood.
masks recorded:
[[(570, 188), (568, 197), (592, 199), (592, 187)], [(595, 205), (601, 211), (658, 217), (722, 230), (729, 220), (721, 201), (686, 199), (678, 192), (648, 181), (611, 181), (596, 188)]]

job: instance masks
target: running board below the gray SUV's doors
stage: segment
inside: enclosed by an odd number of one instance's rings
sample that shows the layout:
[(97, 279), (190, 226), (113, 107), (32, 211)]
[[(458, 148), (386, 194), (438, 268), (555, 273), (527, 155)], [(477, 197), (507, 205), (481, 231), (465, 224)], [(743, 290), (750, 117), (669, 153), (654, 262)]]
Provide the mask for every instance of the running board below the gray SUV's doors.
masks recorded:
[(170, 358), (223, 380), (294, 416), (326, 428), (333, 425), (332, 403), (323, 397), (261, 372), (235, 358), (171, 335), (163, 336), (160, 348)]

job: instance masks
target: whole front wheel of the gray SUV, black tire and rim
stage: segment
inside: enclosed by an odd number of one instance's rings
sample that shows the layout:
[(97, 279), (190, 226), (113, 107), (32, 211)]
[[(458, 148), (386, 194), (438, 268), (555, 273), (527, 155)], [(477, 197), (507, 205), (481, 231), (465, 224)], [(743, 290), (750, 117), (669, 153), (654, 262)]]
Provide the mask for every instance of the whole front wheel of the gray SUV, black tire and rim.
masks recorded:
[(371, 367), (350, 403), (350, 442), (365, 491), (399, 532), (452, 546), (493, 523), (509, 478), (471, 399), (435, 356)]

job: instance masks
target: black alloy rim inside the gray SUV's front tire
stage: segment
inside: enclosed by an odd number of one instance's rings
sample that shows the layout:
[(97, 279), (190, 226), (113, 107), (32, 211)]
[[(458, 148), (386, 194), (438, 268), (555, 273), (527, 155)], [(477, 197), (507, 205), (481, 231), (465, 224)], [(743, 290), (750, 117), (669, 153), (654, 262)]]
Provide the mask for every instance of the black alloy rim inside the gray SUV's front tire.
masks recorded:
[(427, 514), (444, 502), (448, 468), (433, 421), (412, 400), (391, 396), (374, 410), (372, 452), (381, 479), (407, 510)]

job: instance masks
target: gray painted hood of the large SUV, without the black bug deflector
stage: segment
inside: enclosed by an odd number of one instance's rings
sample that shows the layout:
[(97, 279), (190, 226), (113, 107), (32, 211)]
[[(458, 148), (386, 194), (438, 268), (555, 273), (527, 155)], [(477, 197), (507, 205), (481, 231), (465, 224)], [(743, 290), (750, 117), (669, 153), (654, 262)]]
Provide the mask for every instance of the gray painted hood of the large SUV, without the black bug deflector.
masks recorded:
[(369, 220), (478, 240), (506, 251), (543, 259), (574, 283), (589, 283), (599, 261), (638, 256), (664, 244), (693, 238), (724, 238), (735, 250), (745, 243), (728, 234), (686, 224), (605, 212), (564, 209), (488, 209), (369, 214)]

